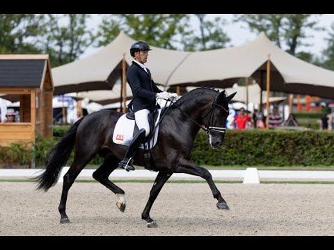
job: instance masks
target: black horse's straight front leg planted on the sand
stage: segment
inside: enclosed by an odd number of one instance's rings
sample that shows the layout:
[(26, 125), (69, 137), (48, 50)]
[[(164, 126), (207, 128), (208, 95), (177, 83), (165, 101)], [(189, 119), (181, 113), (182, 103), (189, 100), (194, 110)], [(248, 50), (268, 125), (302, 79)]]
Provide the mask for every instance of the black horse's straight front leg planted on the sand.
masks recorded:
[(157, 178), (155, 178), (155, 181), (153, 183), (153, 187), (150, 192), (150, 198), (148, 199), (148, 203), (146, 203), (146, 206), (143, 210), (143, 213), (141, 214), (141, 219), (145, 219), (146, 222), (148, 222), (149, 228), (157, 228), (158, 224), (150, 217), (150, 210), (152, 208), (152, 205), (157, 199), (157, 196), (161, 190), (161, 188), (164, 186), (168, 178), (172, 175), (172, 173), (166, 173), (166, 172), (159, 172), (157, 175)]

